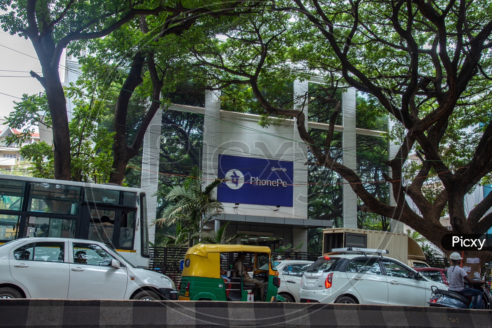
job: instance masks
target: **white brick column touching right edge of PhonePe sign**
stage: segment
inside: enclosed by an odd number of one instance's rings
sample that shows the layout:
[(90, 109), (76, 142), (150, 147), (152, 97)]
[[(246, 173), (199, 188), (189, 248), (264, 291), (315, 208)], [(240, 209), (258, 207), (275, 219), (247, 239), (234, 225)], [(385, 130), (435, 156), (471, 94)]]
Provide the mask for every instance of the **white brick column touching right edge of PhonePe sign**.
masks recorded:
[[(307, 92), (308, 82), (299, 80), (294, 81), (294, 108), (304, 111), (304, 126), (307, 130), (307, 99), (304, 95)], [(304, 106), (303, 106), (304, 105)], [(299, 136), (297, 130), (297, 119), (294, 119), (294, 194), (292, 214), (296, 219), (307, 219), (307, 144)], [(298, 229), (299, 230), (299, 229)], [(306, 232), (307, 238), (307, 232)], [(299, 243), (299, 242), (298, 242)], [(307, 244), (307, 240), (304, 242)]]

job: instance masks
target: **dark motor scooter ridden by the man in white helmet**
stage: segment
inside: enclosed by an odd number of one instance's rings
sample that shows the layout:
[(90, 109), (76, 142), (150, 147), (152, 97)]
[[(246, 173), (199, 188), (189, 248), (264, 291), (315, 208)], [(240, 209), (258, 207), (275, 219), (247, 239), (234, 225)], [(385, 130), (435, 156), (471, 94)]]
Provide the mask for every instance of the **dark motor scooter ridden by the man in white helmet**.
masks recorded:
[[(478, 280), (478, 278), (472, 278), (472, 280)], [(490, 309), (492, 300), (490, 289), (487, 284), (473, 284), (471, 287), (482, 291), (481, 309)], [(430, 306), (452, 307), (455, 309), (468, 309), (471, 307), (472, 297), (465, 297), (453, 291), (438, 289), (436, 286), (431, 286), (431, 290), (431, 297), (429, 298), (429, 301), (427, 301)]]

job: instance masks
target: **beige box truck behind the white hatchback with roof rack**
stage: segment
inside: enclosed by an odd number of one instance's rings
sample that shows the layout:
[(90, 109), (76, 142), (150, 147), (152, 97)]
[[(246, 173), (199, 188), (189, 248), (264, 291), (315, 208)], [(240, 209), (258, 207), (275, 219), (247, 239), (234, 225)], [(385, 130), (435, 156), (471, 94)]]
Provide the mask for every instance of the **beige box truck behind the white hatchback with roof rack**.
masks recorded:
[(364, 230), (354, 228), (323, 229), (323, 255), (332, 254), (333, 248), (361, 247), (388, 249), (384, 256), (392, 257), (410, 267), (429, 267), (416, 241), (406, 233)]

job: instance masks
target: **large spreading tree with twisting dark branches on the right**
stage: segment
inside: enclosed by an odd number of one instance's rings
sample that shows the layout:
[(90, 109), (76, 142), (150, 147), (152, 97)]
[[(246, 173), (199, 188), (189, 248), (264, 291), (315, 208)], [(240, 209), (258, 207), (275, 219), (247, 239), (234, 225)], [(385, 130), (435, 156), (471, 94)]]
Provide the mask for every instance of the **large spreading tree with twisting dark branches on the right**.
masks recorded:
[[(442, 249), (441, 239), (449, 230), (439, 218), (446, 205), (454, 232), (483, 234), (492, 225), (492, 214), (484, 217), (492, 194), (469, 213), (463, 204), (464, 196), (492, 170), (492, 125), (486, 105), (491, 100), (492, 5), (479, 6), (464, 0), (277, 2), (277, 16), (256, 15), (254, 22), (243, 21), (231, 31), (223, 44), (195, 53), (218, 83), (240, 80), (251, 85), (267, 115), (295, 117), (313, 164), (340, 174), (371, 212), (404, 222)], [(391, 171), (380, 172), (384, 182), (364, 181), (333, 157), (337, 111), (319, 143), (306, 130), (302, 109), (277, 107), (263, 96), (263, 83), (276, 72), (303, 78), (302, 68), (304, 74), (318, 71), (325, 76), (326, 102), (338, 104), (334, 95), (340, 85), (353, 86), (398, 122), (403, 138), (396, 140), (400, 148), (387, 162)], [(474, 128), (474, 134), (465, 142), (461, 131), (466, 127)], [(414, 150), (421, 163), (406, 184), (404, 167)], [(442, 189), (430, 200), (423, 188), (432, 176)], [(395, 206), (368, 190), (368, 184), (375, 183), (391, 184)], [(423, 216), (412, 211), (405, 196)], [(465, 256), (479, 257), (483, 264), (492, 259), (492, 252), (468, 251)], [(472, 265), (472, 270), (478, 272), (479, 267)]]

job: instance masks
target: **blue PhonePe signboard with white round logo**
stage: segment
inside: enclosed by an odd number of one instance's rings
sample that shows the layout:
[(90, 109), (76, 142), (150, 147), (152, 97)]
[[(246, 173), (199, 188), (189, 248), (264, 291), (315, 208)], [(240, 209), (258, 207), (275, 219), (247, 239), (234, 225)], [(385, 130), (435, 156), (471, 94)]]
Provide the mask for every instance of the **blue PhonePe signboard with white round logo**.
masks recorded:
[(292, 207), (292, 162), (219, 155), (218, 176), (228, 181), (217, 188), (224, 203)]

